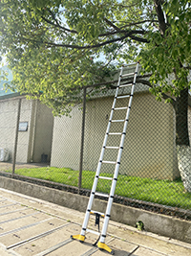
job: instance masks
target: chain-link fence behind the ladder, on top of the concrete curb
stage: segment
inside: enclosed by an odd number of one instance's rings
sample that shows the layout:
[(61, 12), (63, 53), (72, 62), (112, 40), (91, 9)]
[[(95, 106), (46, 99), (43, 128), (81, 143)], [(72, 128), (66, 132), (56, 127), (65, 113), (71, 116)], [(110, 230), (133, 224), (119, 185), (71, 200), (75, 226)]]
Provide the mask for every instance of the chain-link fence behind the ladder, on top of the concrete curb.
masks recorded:
[[(128, 94), (129, 90), (122, 88), (119, 95)], [(37, 101), (27, 101), (24, 97), (1, 100), (1, 175), (28, 176), (35, 178), (33, 182), (52, 181), (52, 185), (59, 183), (69, 191), (89, 195), (114, 95), (115, 90), (109, 89), (87, 101), (83, 109), (82, 105), (74, 106), (70, 116), (54, 118), (51, 110)], [(184, 129), (185, 132), (188, 129), (191, 138), (190, 96), (188, 99), (188, 128)], [(126, 105), (128, 100), (120, 99), (116, 107)], [(115, 111), (113, 119), (124, 119), (125, 112)], [(156, 101), (148, 86), (137, 83), (115, 201), (160, 213), (179, 211), (179, 215), (187, 216), (188, 212), (180, 211), (191, 209), (191, 193), (185, 191), (180, 178), (177, 120), (172, 104)], [(122, 129), (123, 123), (116, 122), (110, 132), (122, 132)], [(108, 137), (107, 146), (118, 147), (119, 143), (119, 135)], [(106, 150), (103, 160), (117, 161), (117, 152), (117, 149)], [(184, 161), (190, 166), (189, 157)], [(100, 175), (113, 177), (114, 170), (114, 164), (104, 163)], [(109, 194), (111, 182), (99, 179), (97, 192)]]

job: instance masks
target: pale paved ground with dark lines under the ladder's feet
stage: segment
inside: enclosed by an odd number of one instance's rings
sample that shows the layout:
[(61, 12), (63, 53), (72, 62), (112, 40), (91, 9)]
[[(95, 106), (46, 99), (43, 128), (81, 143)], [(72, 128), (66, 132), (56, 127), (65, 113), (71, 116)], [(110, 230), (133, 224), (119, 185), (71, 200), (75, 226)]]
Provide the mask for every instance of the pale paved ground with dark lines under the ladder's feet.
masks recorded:
[[(71, 240), (83, 219), (84, 213), (73, 209), (0, 189), (0, 256), (110, 255), (93, 245), (95, 234), (87, 232), (83, 244)], [(89, 228), (97, 231), (94, 216)], [(109, 222), (106, 244), (116, 256), (191, 256), (191, 244), (115, 221)]]

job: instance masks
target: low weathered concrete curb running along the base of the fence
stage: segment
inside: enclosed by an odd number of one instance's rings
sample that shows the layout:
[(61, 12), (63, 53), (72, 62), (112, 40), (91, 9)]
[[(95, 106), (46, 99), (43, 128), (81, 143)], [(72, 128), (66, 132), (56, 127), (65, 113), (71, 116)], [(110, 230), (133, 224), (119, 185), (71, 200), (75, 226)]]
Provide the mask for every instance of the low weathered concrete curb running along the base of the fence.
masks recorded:
[[(88, 197), (79, 196), (65, 191), (35, 185), (26, 181), (0, 176), (0, 187), (34, 198), (47, 200), (80, 212), (85, 212)], [(104, 212), (107, 201), (95, 199), (93, 210)], [(191, 221), (182, 221), (174, 217), (159, 215), (138, 208), (114, 203), (111, 220), (135, 227), (142, 221), (145, 230), (161, 236), (191, 243)]]

